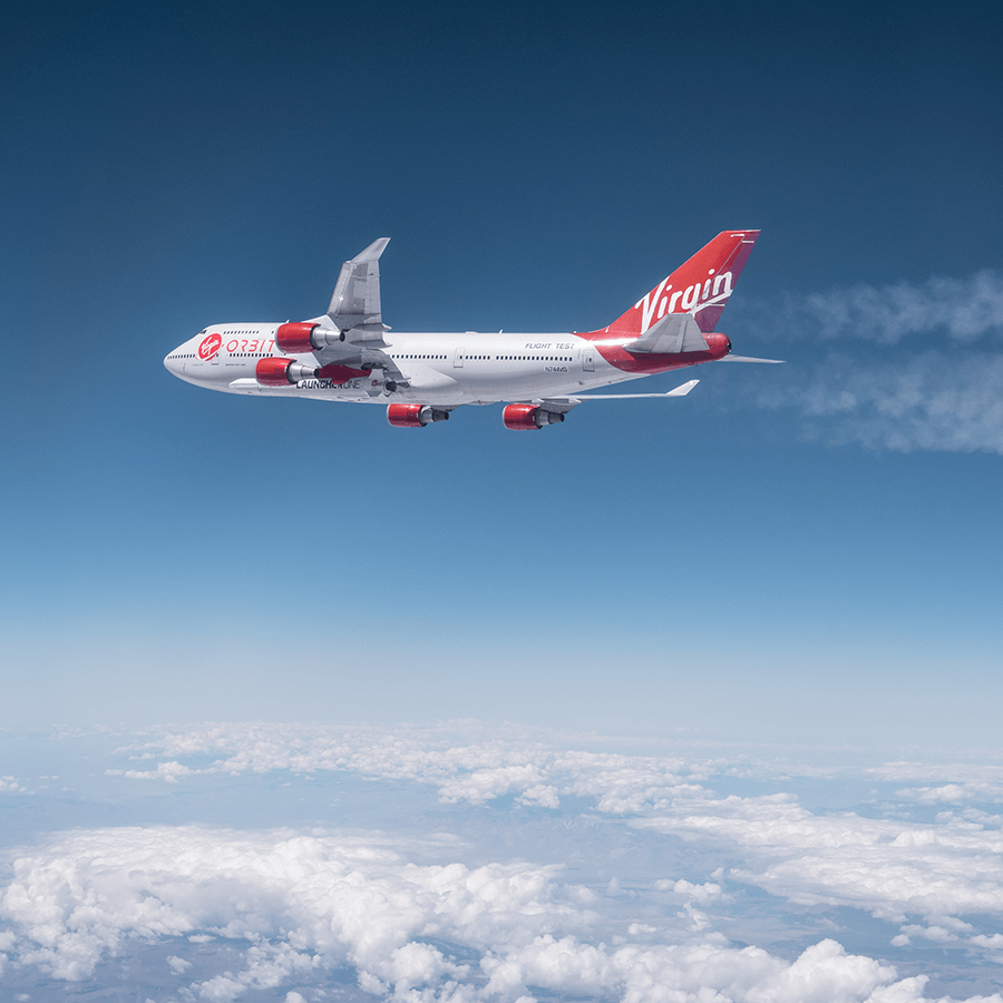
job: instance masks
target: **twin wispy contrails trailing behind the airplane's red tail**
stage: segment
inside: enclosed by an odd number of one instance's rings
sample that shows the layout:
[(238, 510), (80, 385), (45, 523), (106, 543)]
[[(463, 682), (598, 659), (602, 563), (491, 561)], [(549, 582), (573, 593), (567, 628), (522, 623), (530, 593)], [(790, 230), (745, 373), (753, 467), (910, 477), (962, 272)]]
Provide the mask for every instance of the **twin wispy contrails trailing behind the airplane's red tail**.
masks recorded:
[(808, 438), (1003, 455), (1003, 275), (788, 294), (734, 312), (743, 343), (825, 347), (747, 391), (758, 407), (795, 408)]

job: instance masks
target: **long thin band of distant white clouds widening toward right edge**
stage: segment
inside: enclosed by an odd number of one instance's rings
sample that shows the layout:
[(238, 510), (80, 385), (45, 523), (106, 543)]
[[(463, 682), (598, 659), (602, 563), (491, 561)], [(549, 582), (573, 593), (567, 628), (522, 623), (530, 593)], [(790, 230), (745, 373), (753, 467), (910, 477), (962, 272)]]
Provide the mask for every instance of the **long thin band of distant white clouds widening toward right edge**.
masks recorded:
[[(715, 778), (763, 776), (763, 766), (747, 758), (624, 756), (498, 739), (462, 743), (421, 731), (273, 724), (172, 731), (130, 751), (145, 756), (150, 747), (172, 758), (134, 776), (171, 780), (185, 769), (173, 757), (214, 753), (220, 758), (204, 770), (337, 770), (409, 779), (434, 785), (445, 804), (513, 797), (516, 804), (558, 809), (562, 799), (584, 798), (635, 828), (728, 846), (744, 861), (732, 869), (732, 879), (792, 903), (865, 909), (903, 928), (973, 913), (1003, 918), (1001, 817), (973, 807), (1003, 801), (994, 766), (889, 763), (868, 771), (890, 781), (946, 781), (899, 791), (906, 802), (957, 806), (925, 824), (812, 814), (790, 795), (714, 795)], [(967, 933), (967, 939), (961, 933), (954, 939), (1003, 962), (997, 947), (977, 939), (978, 931)]]

